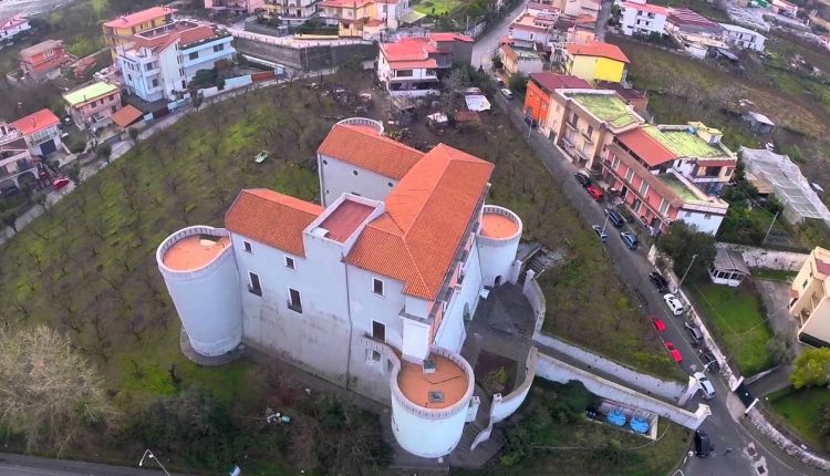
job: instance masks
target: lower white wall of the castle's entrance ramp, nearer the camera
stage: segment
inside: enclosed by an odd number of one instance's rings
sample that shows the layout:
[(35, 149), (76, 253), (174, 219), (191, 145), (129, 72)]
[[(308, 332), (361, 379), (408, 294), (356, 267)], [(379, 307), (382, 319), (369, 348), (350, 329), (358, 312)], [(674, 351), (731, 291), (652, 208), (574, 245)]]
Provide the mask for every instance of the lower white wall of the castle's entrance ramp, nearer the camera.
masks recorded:
[(649, 395), (635, 392), (629, 387), (618, 385), (544, 354), (539, 356), (536, 373), (542, 379), (559, 383), (568, 383), (572, 380), (578, 380), (594, 395), (655, 413), (658, 416), (668, 418), (670, 421), (689, 430), (697, 430), (706, 417), (712, 414), (712, 411), (707, 405), (699, 404), (697, 410), (693, 413)]

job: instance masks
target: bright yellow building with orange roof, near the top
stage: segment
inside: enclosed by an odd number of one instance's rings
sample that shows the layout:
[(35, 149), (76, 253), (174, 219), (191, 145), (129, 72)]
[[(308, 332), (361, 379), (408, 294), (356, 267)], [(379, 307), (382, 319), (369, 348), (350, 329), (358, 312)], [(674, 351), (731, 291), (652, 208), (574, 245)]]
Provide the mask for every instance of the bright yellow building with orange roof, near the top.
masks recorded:
[(569, 44), (564, 60), (566, 72), (585, 81), (625, 81), (629, 59), (616, 45), (600, 41)]

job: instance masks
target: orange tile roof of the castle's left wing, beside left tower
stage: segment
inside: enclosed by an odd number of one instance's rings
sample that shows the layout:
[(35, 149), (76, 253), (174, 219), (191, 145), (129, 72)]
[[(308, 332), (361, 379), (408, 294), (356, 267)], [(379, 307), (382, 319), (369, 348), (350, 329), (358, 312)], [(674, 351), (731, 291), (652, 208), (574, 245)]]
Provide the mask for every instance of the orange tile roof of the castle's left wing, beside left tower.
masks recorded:
[(323, 208), (264, 188), (245, 189), (225, 214), (230, 231), (295, 256), (305, 256), (302, 231)]

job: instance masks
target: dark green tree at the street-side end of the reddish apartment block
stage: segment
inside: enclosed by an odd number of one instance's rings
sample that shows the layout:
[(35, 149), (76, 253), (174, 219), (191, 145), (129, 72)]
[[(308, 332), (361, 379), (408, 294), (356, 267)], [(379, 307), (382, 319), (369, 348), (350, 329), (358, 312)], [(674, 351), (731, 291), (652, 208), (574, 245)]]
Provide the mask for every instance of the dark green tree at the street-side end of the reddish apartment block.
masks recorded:
[(677, 276), (683, 276), (694, 259), (692, 268), (688, 269), (689, 279), (704, 277), (706, 267), (715, 259), (716, 253), (715, 237), (697, 231), (679, 220), (670, 225), (668, 231), (660, 237), (657, 249), (672, 258)]

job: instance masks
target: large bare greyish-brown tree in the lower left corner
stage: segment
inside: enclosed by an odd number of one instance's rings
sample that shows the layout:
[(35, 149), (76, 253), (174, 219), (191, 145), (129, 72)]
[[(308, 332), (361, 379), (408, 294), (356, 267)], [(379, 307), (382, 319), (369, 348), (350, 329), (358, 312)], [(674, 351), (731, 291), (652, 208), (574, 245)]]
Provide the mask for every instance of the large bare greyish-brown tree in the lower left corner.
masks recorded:
[(115, 421), (97, 370), (45, 325), (0, 329), (0, 425), (29, 452), (61, 456), (85, 426)]

